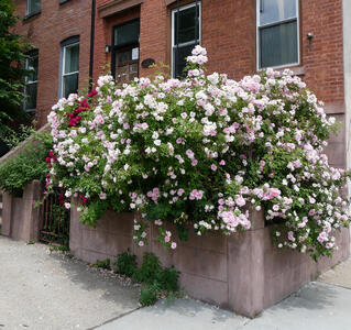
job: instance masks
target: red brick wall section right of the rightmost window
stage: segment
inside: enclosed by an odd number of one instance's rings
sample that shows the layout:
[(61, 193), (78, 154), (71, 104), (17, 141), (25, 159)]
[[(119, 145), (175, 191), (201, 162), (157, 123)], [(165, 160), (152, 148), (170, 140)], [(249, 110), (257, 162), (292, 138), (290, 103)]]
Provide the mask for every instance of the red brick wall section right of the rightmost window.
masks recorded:
[[(326, 103), (343, 103), (342, 1), (300, 2), (304, 79)], [(309, 32), (311, 42), (306, 37)]]

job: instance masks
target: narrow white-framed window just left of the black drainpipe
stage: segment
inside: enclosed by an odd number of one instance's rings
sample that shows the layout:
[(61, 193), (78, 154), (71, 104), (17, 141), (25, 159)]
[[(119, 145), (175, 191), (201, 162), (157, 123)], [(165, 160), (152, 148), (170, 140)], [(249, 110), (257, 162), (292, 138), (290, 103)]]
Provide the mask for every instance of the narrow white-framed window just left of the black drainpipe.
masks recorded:
[(70, 37), (61, 44), (61, 88), (58, 96), (67, 98), (78, 90), (79, 36)]

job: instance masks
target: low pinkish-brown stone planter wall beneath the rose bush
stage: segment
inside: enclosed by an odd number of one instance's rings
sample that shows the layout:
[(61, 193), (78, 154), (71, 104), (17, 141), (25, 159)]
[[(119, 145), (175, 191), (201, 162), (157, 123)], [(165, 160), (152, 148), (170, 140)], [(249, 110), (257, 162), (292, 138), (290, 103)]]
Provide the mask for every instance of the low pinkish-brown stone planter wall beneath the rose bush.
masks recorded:
[(264, 227), (263, 215), (252, 213), (252, 230), (223, 237), (220, 233), (197, 237), (190, 231), (187, 242), (178, 242), (175, 251), (166, 251), (155, 238), (157, 228), (147, 233), (149, 245), (133, 243), (133, 215), (108, 211), (96, 229), (79, 222), (75, 208), (70, 212), (69, 246), (84, 261), (95, 263), (130, 251), (141, 261), (144, 252), (155, 253), (163, 265), (182, 272), (180, 285), (193, 297), (213, 302), (241, 315), (254, 317), (311, 280), (319, 272), (349, 256), (350, 234), (338, 235), (340, 246), (332, 258), (318, 263), (309, 256), (281, 251), (273, 246), (272, 228)]

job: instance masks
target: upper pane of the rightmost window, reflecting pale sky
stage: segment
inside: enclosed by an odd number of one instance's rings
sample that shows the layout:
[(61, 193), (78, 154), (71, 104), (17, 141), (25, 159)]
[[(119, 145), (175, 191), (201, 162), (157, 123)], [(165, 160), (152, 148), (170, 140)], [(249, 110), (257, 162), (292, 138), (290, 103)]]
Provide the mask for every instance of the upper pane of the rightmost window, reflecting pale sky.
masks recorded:
[(260, 25), (296, 16), (296, 0), (260, 0)]

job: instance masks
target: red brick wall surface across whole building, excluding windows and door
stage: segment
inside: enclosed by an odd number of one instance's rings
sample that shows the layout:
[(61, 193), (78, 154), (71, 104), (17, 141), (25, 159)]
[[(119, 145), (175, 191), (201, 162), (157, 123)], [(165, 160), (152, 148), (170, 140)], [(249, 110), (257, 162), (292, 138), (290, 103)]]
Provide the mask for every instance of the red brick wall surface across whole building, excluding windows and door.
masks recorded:
[[(152, 57), (169, 64), (171, 9), (165, 0), (144, 0), (140, 8), (108, 19), (99, 16), (98, 8), (111, 0), (97, 0), (94, 79), (107, 72), (112, 26), (140, 16), (140, 62)], [(180, 3), (184, 3), (183, 0)], [(18, 13), (24, 15), (25, 0), (15, 0)], [(189, 2), (189, 1), (187, 1)], [(19, 24), (18, 31), (28, 35), (40, 50), (37, 119), (40, 125), (57, 99), (59, 43), (80, 35), (79, 87), (87, 86), (90, 45), (90, 0), (42, 1), (42, 13)], [(201, 44), (209, 54), (209, 72), (226, 72), (240, 79), (256, 72), (255, 0), (202, 0)], [(307, 33), (314, 33), (309, 41)], [(327, 103), (326, 110), (343, 113), (342, 1), (300, 0), (299, 67), (308, 87)], [(140, 76), (151, 69), (140, 67)]]

